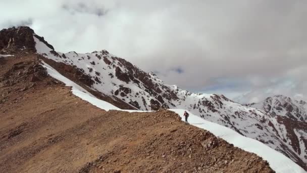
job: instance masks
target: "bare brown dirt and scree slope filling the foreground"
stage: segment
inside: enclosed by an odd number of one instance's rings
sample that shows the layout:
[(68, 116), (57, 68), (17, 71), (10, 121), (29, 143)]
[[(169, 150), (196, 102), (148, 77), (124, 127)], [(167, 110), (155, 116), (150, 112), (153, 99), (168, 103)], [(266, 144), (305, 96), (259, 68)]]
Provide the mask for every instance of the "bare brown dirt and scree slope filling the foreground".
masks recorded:
[(92, 106), (47, 76), (33, 55), (1, 62), (2, 172), (274, 172), (168, 110)]

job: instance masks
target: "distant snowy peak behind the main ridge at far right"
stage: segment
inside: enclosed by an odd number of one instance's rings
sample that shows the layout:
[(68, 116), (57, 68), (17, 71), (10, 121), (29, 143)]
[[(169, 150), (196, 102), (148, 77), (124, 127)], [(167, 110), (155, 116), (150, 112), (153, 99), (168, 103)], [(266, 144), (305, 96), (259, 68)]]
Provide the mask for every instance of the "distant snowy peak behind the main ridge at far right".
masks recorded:
[(251, 103), (246, 106), (286, 116), (295, 121), (307, 122), (307, 103), (302, 100), (297, 101), (286, 96), (276, 95), (266, 98), (263, 102)]

